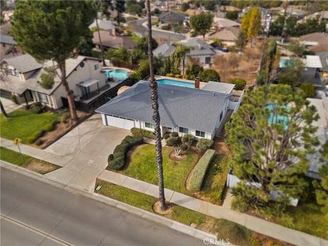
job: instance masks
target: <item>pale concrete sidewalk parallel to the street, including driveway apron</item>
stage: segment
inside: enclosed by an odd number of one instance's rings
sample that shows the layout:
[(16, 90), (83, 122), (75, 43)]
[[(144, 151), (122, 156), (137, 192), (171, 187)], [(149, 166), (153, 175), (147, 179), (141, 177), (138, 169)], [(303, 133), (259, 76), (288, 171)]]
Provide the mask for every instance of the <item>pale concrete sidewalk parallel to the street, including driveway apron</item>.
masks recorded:
[[(17, 147), (13, 145), (11, 140), (1, 138), (1, 146), (17, 151)], [(30, 146), (20, 145), (22, 153), (30, 155), (32, 157), (47, 160), (51, 162), (49, 158), (52, 153), (45, 150), (35, 149)], [(57, 159), (67, 158), (63, 156), (56, 156)], [(90, 192), (94, 191), (96, 178), (114, 183), (115, 185), (122, 186), (140, 193), (144, 193), (158, 198), (158, 186), (150, 183), (131, 178), (122, 174), (96, 168), (88, 165), (80, 171), (74, 171), (67, 167), (57, 169), (53, 172), (46, 174), (48, 178), (55, 179), (63, 182), (66, 185), (84, 189)], [(190, 197), (169, 189), (165, 189), (166, 199), (172, 203), (175, 203), (181, 207), (214, 217), (223, 218), (242, 226), (285, 242), (289, 242), (295, 245), (328, 245), (328, 241), (315, 237), (303, 232), (299, 232), (293, 229), (282, 227), (278, 224), (256, 218), (247, 214), (237, 213), (228, 208), (216, 206), (212, 203), (199, 200), (194, 197)]]

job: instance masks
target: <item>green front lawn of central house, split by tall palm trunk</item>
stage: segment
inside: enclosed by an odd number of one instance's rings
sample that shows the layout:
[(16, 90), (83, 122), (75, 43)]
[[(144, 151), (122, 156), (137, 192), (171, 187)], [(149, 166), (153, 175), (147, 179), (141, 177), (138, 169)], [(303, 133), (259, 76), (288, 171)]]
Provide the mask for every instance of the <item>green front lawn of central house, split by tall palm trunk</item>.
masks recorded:
[[(185, 182), (188, 174), (198, 160), (196, 153), (187, 151), (187, 158), (181, 161), (174, 161), (169, 158), (171, 148), (163, 148), (163, 173), (164, 186), (186, 195), (192, 195), (186, 189)], [(154, 145), (146, 145), (137, 149), (124, 175), (158, 185), (156, 152)]]

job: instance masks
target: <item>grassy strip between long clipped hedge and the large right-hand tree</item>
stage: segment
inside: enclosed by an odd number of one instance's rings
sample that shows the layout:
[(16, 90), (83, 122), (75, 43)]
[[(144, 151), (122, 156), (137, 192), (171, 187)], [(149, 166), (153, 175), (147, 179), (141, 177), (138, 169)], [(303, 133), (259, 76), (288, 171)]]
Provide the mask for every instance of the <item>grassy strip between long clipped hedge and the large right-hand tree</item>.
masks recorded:
[(215, 155), (207, 170), (200, 194), (210, 197), (213, 204), (222, 205), (226, 196), (228, 172), (229, 158), (227, 155)]

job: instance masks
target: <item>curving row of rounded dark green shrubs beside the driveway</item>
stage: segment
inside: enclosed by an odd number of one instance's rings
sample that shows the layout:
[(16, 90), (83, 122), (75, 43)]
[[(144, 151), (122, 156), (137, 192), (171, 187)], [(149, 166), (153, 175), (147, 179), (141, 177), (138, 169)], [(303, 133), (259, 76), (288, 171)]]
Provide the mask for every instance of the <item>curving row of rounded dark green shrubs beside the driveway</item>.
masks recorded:
[(108, 166), (113, 170), (119, 170), (124, 166), (125, 154), (133, 145), (139, 145), (144, 142), (144, 137), (134, 135), (126, 136), (121, 143), (115, 147), (113, 154), (108, 156)]

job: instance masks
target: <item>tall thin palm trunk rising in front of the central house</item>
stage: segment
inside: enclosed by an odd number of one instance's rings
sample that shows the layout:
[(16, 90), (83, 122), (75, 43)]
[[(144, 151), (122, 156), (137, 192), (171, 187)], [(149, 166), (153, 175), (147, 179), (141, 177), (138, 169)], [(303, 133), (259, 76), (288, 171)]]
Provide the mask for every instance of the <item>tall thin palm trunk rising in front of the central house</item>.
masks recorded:
[(160, 136), (160, 125), (159, 125), (159, 110), (158, 110), (158, 95), (157, 95), (157, 82), (154, 77), (154, 66), (153, 66), (153, 48), (152, 48), (152, 25), (150, 16), (150, 1), (146, 1), (147, 8), (147, 19), (148, 19), (148, 56), (149, 56), (149, 67), (150, 67), (150, 98), (152, 100), (153, 119), (155, 124), (155, 137), (156, 137), (156, 161), (157, 161), (157, 173), (158, 173), (158, 186), (159, 186), (159, 201), (160, 209), (166, 210), (167, 206), (165, 203), (164, 194), (164, 179), (163, 179), (163, 157), (162, 157), (162, 144)]

